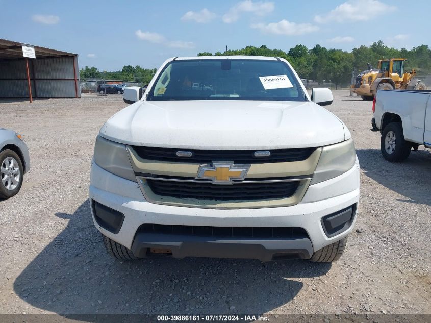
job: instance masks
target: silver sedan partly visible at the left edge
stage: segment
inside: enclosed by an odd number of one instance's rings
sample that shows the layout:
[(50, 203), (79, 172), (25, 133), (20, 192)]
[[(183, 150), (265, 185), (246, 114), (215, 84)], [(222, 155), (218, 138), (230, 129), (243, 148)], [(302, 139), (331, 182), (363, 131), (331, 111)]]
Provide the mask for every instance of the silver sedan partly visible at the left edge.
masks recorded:
[(13, 130), (0, 128), (0, 163), (0, 198), (9, 198), (19, 192), (30, 170), (29, 149)]

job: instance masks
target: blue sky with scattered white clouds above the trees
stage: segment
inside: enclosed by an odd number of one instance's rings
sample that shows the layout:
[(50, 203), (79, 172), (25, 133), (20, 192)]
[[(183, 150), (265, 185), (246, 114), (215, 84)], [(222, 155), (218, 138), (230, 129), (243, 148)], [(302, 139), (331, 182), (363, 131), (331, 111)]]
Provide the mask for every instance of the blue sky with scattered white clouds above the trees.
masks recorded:
[(350, 51), (377, 40), (396, 48), (431, 42), (426, 0), (0, 0), (0, 8), (0, 38), (77, 53), (80, 67), (100, 70), (159, 67), (226, 45)]

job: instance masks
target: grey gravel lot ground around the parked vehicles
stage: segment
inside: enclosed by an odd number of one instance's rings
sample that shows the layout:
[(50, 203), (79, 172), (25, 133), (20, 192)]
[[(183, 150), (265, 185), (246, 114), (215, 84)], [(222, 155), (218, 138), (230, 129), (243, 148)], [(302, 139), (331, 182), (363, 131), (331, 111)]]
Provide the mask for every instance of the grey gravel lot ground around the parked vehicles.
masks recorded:
[(361, 163), (356, 231), (337, 263), (166, 257), (119, 263), (89, 211), (90, 160), (121, 96), (2, 101), (32, 170), (0, 201), (0, 313), (431, 314), (431, 154), (385, 161), (371, 103), (335, 91)]

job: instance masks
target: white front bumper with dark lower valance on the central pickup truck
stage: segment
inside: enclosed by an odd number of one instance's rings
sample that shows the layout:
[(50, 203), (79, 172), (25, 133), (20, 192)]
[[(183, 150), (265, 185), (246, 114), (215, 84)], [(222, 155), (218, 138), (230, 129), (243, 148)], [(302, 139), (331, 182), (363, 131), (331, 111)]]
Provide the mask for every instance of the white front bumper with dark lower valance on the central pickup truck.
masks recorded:
[[(312, 253), (334, 243), (352, 230), (356, 210), (349, 227), (328, 236), (322, 218), (357, 205), (359, 202), (359, 162), (349, 171), (315, 185), (310, 185), (302, 201), (293, 206), (263, 209), (202, 209), (150, 203), (145, 200), (137, 183), (120, 178), (100, 168), (91, 167), (90, 201), (97, 201), (124, 215), (117, 233), (98, 225), (93, 209), (94, 225), (102, 234), (143, 257), (148, 248), (170, 249), (172, 256), (274, 259), (277, 254), (310, 258)], [(306, 236), (289, 239), (254, 239), (225, 237), (174, 236), (172, 234), (140, 233), (146, 223), (171, 226), (211, 227), (295, 227)]]

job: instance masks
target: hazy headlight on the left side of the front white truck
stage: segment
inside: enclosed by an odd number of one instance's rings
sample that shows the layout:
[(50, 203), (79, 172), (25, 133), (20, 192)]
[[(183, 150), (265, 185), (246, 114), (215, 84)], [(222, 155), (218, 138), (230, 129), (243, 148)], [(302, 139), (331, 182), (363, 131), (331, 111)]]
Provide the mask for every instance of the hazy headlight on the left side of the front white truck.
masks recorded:
[(136, 182), (125, 145), (107, 140), (100, 136), (94, 145), (94, 162), (113, 174)]

